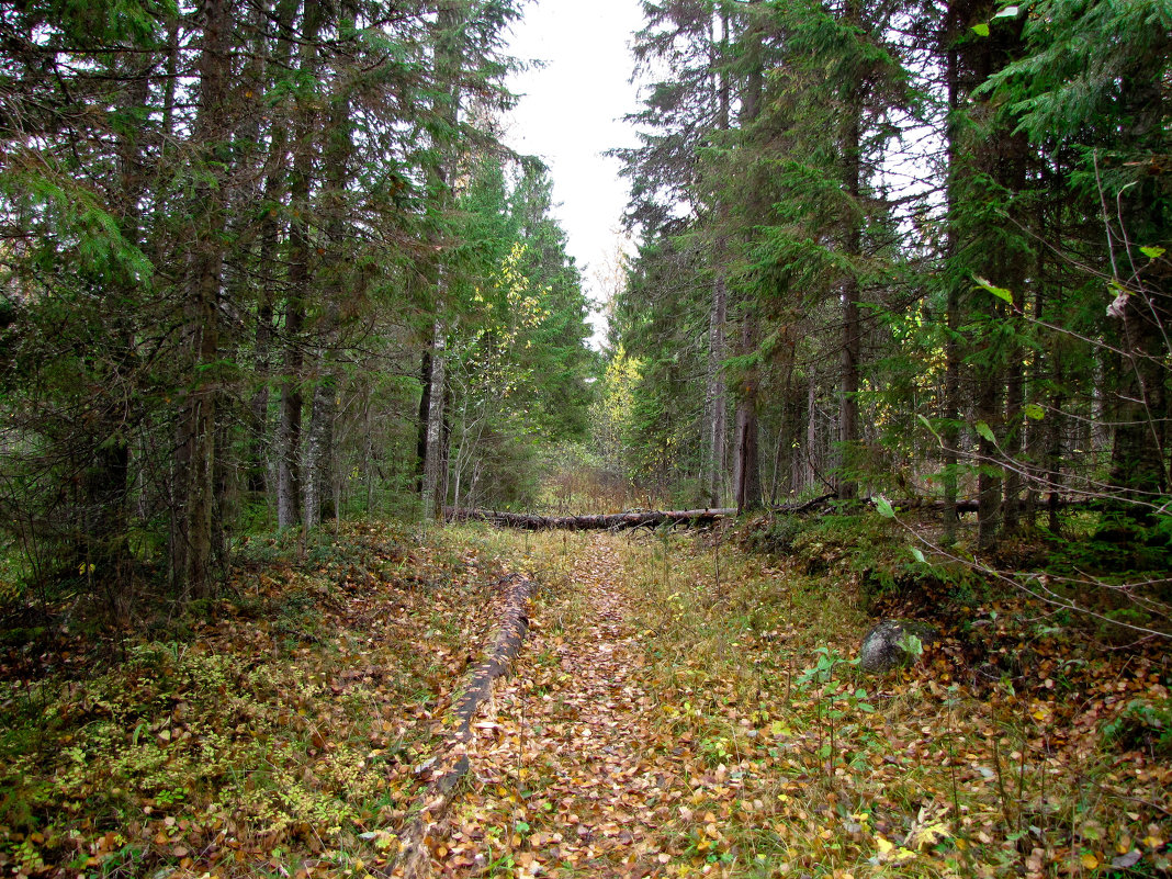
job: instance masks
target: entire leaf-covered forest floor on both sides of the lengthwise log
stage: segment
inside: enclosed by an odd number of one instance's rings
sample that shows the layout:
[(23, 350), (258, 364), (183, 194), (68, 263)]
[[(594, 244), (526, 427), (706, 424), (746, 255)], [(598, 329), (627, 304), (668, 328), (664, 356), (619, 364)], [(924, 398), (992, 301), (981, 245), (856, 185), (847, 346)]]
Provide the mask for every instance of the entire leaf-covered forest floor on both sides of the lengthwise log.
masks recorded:
[(820, 568), (718, 531), (355, 525), (251, 547), (183, 631), (9, 635), (0, 870), (394, 875), (516, 571), (541, 588), (427, 839), (438, 875), (1168, 873), (1166, 650), (970, 595), (867, 677), (824, 543)]

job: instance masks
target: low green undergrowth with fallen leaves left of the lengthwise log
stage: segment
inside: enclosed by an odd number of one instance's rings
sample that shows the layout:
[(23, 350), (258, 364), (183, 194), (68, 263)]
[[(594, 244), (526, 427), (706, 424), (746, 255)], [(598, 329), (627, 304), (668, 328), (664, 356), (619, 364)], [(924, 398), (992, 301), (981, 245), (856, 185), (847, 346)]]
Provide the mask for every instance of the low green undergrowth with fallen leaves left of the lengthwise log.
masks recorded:
[[(434, 756), (503, 573), (489, 538), (253, 538), (217, 600), (0, 654), (0, 870), (363, 874)], [(52, 638), (50, 638), (52, 636)], [(42, 652), (43, 650), (43, 652)], [(471, 652), (471, 653), (470, 653)]]

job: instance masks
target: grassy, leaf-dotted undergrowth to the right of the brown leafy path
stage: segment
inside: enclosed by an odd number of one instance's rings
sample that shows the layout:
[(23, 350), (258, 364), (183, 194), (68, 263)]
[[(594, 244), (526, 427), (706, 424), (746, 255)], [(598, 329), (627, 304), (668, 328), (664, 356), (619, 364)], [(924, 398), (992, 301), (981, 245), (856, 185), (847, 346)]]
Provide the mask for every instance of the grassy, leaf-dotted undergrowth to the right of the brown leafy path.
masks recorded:
[(887, 523), (786, 527), (772, 554), (716, 533), (620, 541), (662, 723), (707, 766), (663, 829), (665, 874), (1167, 873), (1165, 652), (1103, 650), (936, 575), (967, 631), (945, 620), (914, 667), (866, 676), (865, 572), (885, 566), (892, 600), (931, 616), (907, 606), (935, 594), (924, 566)]

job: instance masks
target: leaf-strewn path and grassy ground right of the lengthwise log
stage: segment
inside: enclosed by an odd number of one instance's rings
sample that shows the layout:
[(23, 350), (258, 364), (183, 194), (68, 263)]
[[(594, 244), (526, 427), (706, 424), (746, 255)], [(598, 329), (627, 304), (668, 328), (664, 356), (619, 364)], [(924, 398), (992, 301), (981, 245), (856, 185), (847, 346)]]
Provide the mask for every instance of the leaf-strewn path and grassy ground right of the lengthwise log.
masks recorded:
[(979, 684), (948, 633), (865, 677), (871, 620), (834, 572), (718, 534), (524, 539), (547, 588), (437, 874), (1168, 871), (1168, 754), (1104, 736), (1137, 697), (1167, 704), (1158, 650), (1078, 673), (1004, 608), (997, 631), (1044, 653), (1036, 686)]

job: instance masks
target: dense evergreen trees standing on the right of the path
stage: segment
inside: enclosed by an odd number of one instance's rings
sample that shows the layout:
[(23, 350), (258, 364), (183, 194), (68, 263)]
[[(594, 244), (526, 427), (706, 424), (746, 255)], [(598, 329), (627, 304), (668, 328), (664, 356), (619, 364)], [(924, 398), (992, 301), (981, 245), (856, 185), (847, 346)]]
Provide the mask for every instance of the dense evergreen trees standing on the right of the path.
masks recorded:
[[(771, 503), (935, 499), (941, 545), (975, 505), (981, 552), (1082, 505), (1166, 553), (1166, 4), (645, 9), (615, 341), (628, 435), (672, 455), (629, 475), (716, 466), (714, 506), (752, 466)], [(749, 462), (706, 457), (742, 445), (721, 382)]]

